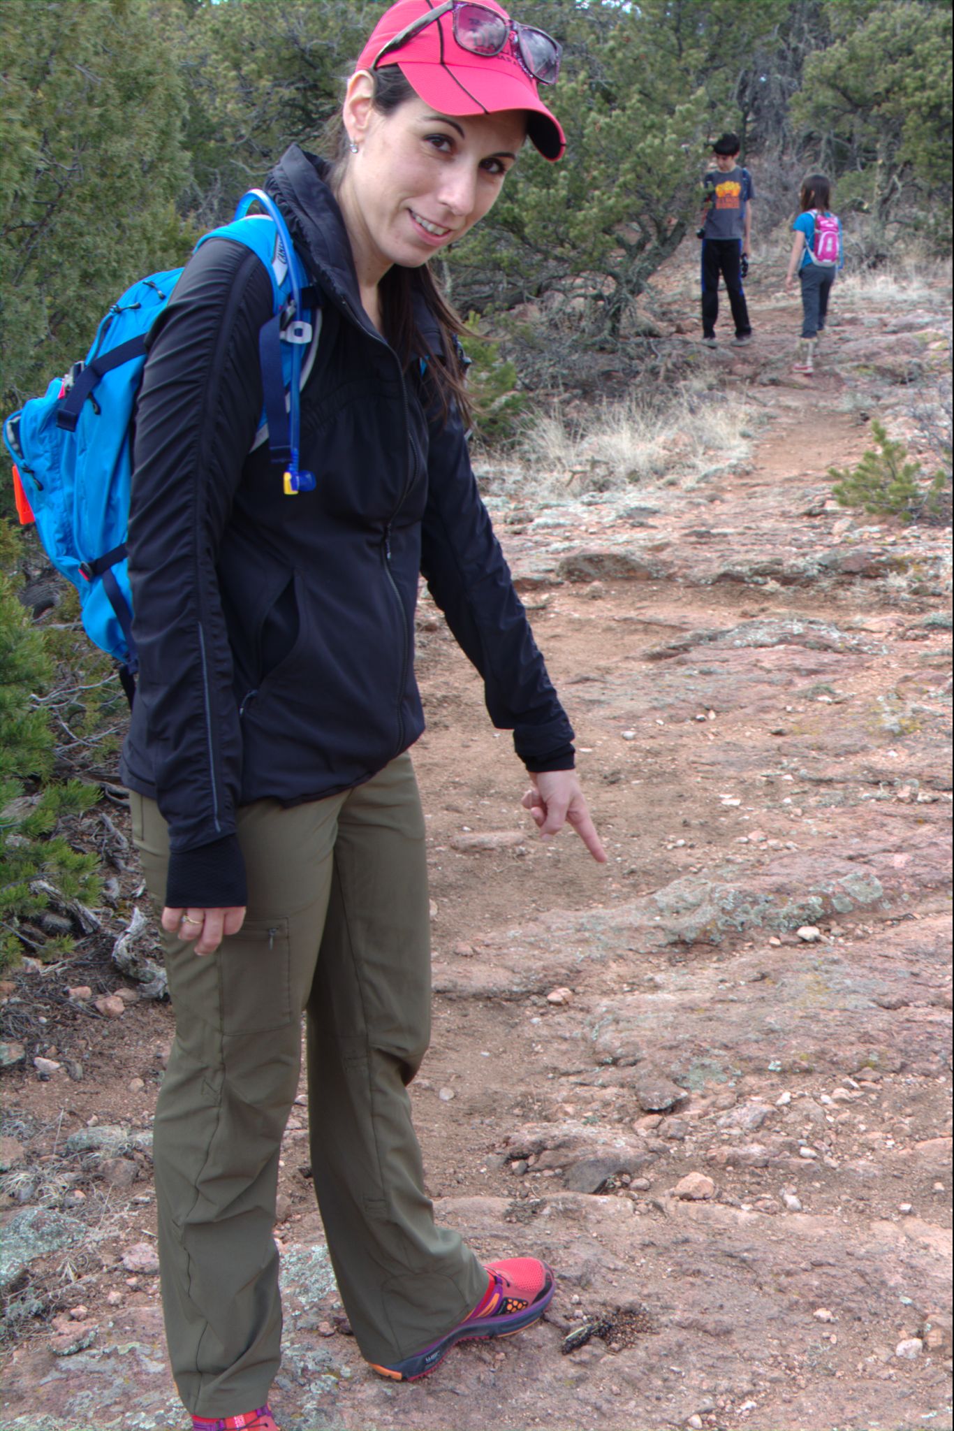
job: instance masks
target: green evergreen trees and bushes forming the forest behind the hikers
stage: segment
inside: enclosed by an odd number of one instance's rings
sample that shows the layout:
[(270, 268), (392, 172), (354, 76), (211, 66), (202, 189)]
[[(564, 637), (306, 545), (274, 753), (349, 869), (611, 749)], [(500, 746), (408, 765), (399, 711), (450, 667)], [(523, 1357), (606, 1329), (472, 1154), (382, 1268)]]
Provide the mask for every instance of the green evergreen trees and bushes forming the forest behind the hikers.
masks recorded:
[[(4, 415), (86, 352), (133, 279), (185, 262), (289, 143), (322, 149), (382, 9), (0, 0)], [(512, 438), (533, 401), (586, 396), (588, 349), (615, 353), (625, 384), (658, 376), (652, 345), (631, 342), (638, 301), (695, 228), (722, 130), (758, 167), (761, 232), (791, 218), (810, 167), (837, 183), (855, 268), (950, 249), (947, 0), (525, 0), (519, 19), (564, 44), (568, 155), (522, 155), (442, 260), (475, 332), (485, 441)], [(11, 512), (4, 479), (0, 519)], [(112, 778), (124, 724), (70, 597), (33, 620), (49, 610), (37, 557), (0, 525), (0, 966), (57, 957), (70, 910), (94, 900), (96, 857), (66, 834)]]

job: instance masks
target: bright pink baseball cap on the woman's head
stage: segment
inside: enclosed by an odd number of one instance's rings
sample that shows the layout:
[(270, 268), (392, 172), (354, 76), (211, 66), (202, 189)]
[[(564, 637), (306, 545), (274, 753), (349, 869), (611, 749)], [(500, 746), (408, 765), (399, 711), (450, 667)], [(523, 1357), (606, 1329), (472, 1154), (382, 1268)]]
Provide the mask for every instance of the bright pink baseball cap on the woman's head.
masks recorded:
[[(486, 10), (493, 10), (509, 20), (506, 10), (496, 0), (479, 0)], [(428, 11), (435, 10), (439, 0), (398, 0), (380, 17), (360, 52), (358, 70), (370, 70), (389, 40), (400, 34), (409, 24)], [(425, 24), (399, 50), (390, 50), (380, 62), (396, 64), (425, 100), (443, 114), (493, 114), (502, 109), (528, 112), (526, 133), (539, 149), (544, 159), (562, 159), (566, 137), (558, 120), (541, 102), (536, 82), (528, 74), (508, 43), (499, 54), (481, 56), (461, 49), (453, 37), (453, 16), (448, 10), (438, 20)]]

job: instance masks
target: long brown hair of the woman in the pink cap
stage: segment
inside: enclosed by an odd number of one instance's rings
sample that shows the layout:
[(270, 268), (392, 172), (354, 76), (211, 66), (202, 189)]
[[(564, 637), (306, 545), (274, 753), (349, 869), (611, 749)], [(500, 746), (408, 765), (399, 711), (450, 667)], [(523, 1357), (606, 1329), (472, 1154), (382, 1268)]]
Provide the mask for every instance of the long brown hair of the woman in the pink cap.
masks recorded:
[[(393, 114), (408, 100), (416, 97), (416, 90), (408, 83), (396, 64), (386, 64), (373, 72), (373, 107), (379, 114)], [(328, 127), (326, 149), (330, 159), (328, 182), (335, 193), (340, 189), (348, 169), (350, 149), (348, 133), (338, 116)], [(428, 363), (428, 378), (436, 391), (446, 421), (452, 404), (461, 409), (463, 425), (471, 421), (471, 402), (463, 385), (463, 363), (459, 356), (459, 338), (466, 332), (463, 319), (441, 292), (431, 265), (402, 268), (393, 263), (380, 283), (380, 318), (385, 338), (398, 353), (405, 369), (422, 358)], [(415, 321), (415, 296), (421, 295), (441, 329), (443, 353), (435, 353)]]

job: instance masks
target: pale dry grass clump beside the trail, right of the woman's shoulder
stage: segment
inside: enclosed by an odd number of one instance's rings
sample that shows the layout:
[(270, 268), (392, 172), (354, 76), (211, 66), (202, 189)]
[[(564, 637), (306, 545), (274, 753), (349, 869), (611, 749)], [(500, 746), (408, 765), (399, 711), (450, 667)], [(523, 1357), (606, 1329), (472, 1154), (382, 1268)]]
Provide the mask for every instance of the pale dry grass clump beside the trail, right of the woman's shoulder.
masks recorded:
[(525, 424), (516, 452), (521, 492), (554, 499), (632, 485), (692, 487), (748, 461), (755, 422), (744, 402), (694, 385), (662, 401), (606, 402), (582, 418), (568, 419), (554, 404)]

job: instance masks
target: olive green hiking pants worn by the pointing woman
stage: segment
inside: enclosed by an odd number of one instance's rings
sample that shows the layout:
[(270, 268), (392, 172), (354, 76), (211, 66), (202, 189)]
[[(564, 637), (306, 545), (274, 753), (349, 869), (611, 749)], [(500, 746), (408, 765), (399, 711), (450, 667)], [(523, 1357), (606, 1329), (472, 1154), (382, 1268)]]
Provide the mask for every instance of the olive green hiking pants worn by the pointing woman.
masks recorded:
[[(130, 794), (153, 899), (167, 830)], [(486, 1291), (435, 1226), (406, 1085), (431, 1027), (423, 817), (409, 756), (355, 790), (239, 811), (249, 909), (205, 957), (169, 940), (176, 1037), (154, 1125), (166, 1338), (189, 1411), (267, 1401), (282, 1307), (273, 1242), (279, 1145), (308, 1032), (315, 1192), (362, 1354), (392, 1362), (449, 1331)]]

